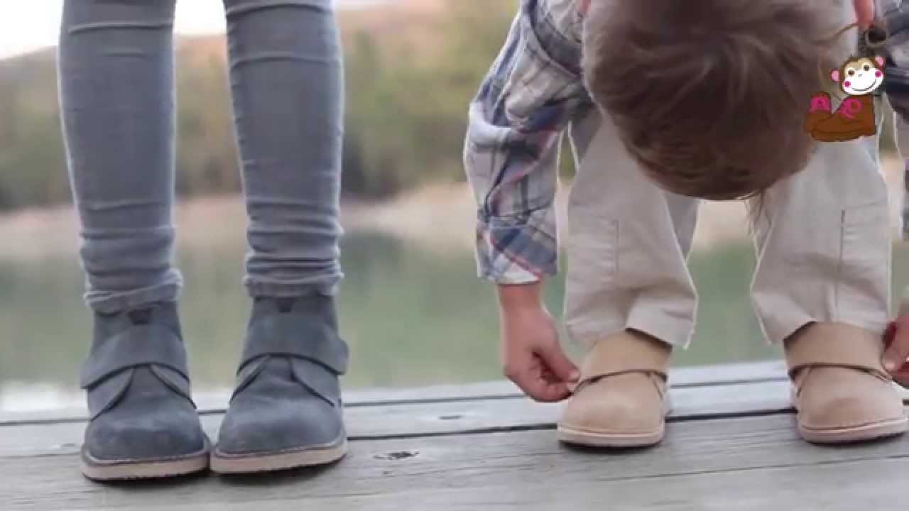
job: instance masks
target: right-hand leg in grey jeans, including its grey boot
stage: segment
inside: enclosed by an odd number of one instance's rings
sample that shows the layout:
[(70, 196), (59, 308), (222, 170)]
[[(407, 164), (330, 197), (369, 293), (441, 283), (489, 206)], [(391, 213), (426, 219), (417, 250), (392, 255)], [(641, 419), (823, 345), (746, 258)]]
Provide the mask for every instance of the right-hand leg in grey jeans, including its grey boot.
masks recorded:
[(344, 456), (338, 265), (344, 82), (329, 0), (225, 0), (254, 298), (217, 472)]

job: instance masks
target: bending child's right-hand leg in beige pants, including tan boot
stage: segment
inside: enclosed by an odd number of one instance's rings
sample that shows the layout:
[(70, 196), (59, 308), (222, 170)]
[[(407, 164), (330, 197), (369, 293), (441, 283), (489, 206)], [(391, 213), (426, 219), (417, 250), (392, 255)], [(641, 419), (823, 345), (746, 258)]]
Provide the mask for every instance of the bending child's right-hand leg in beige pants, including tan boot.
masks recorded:
[(866, 137), (820, 145), (802, 173), (768, 191), (754, 220), (754, 309), (768, 341), (784, 343), (799, 431), (809, 441), (906, 429), (902, 400), (881, 366), (887, 204), (878, 139)]

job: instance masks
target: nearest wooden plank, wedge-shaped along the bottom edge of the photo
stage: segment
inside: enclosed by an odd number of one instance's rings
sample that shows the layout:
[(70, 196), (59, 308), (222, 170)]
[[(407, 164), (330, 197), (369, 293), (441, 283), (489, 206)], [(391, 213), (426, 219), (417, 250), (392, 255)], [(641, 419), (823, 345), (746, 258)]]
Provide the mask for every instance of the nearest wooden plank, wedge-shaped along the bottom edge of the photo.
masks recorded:
[[(622, 481), (586, 480), (563, 486), (499, 485), (414, 488), (393, 494), (255, 501), (256, 511), (314, 506), (325, 511), (604, 509), (609, 511), (904, 511), (909, 459), (860, 460), (824, 466), (780, 466)], [(131, 509), (139, 507), (128, 506)], [(124, 507), (101, 507), (103, 510)], [(249, 503), (142, 506), (144, 511), (246, 511)]]

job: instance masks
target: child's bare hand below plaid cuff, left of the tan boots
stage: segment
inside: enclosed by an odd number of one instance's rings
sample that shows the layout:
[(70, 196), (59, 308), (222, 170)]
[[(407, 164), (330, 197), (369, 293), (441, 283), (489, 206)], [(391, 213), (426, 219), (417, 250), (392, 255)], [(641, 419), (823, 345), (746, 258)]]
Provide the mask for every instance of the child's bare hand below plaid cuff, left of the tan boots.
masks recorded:
[(504, 375), (527, 396), (557, 402), (571, 396), (580, 373), (559, 346), (540, 286), (499, 286)]

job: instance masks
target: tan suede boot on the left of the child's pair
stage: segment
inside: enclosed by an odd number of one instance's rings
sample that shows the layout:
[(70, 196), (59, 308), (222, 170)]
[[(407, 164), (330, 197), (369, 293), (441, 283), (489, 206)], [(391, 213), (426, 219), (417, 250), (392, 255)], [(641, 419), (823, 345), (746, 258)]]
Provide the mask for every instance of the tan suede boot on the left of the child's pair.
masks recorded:
[(664, 436), (671, 349), (621, 332), (596, 343), (558, 424), (558, 438), (582, 446), (652, 446)]

